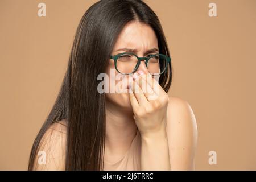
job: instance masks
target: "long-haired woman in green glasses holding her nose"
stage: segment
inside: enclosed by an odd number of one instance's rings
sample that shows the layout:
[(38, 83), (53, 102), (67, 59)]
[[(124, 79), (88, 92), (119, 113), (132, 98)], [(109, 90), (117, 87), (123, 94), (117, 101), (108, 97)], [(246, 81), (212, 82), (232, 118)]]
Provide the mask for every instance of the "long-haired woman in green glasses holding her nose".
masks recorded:
[[(100, 92), (101, 73), (109, 78), (105, 91), (118, 82), (113, 70), (127, 80), (121, 87), (129, 93)], [(170, 53), (154, 11), (139, 0), (95, 3), (79, 23), (28, 169), (195, 169), (196, 119), (186, 101), (167, 95), (171, 80)]]

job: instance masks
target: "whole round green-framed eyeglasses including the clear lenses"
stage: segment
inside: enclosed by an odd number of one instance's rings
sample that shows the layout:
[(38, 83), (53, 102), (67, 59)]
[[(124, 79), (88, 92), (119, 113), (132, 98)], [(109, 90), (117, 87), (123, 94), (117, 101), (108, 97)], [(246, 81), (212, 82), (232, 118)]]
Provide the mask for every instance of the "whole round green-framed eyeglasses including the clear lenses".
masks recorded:
[(160, 75), (166, 71), (168, 64), (171, 62), (171, 57), (160, 53), (148, 56), (138, 57), (132, 52), (122, 52), (110, 56), (110, 59), (114, 60), (115, 69), (122, 75), (129, 75), (136, 72), (142, 60), (146, 60), (146, 67), (151, 75)]

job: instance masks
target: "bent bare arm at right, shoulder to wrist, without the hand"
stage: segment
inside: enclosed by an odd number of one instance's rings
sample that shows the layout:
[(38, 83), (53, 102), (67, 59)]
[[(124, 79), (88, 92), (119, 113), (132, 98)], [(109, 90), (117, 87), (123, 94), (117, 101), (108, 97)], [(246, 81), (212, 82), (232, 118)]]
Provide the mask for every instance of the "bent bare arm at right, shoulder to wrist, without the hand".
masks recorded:
[(142, 170), (195, 170), (197, 125), (188, 102), (171, 97), (166, 133), (142, 137)]

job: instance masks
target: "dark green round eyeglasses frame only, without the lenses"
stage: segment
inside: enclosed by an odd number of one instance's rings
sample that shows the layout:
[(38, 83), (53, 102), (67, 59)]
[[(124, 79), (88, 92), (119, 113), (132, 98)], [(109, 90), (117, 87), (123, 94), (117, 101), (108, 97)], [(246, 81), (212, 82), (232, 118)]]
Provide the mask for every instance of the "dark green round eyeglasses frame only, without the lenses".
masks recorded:
[[(135, 65), (135, 68), (134, 68), (133, 72), (131, 72), (131, 73), (121, 73), (117, 69), (117, 60), (118, 60), (119, 56), (125, 55), (127, 53), (136, 56), (137, 59), (138, 59), (138, 63)], [(166, 68), (167, 68), (168, 64), (171, 62), (172, 59), (171, 59), (171, 57), (168, 57), (168, 56), (160, 54), (160, 53), (152, 54), (150, 57), (138, 57), (137, 55), (135, 55), (135, 53), (132, 53), (132, 52), (122, 52), (122, 53), (118, 53), (117, 55), (109, 56), (109, 58), (114, 60), (115, 69), (117, 70), (118, 73), (120, 73), (122, 75), (130, 75), (130, 74), (133, 74), (137, 71), (137, 69), (139, 68), (139, 65), (141, 64), (142, 60), (146, 60), (145, 63), (146, 63), (146, 67), (147, 67), (148, 60), (150, 60), (150, 58), (154, 57), (155, 55), (163, 56), (166, 59), (167, 64), (166, 64), (166, 67), (163, 69), (163, 71), (161, 73), (158, 73), (158, 74), (150, 73), (150, 74), (151, 75), (161, 75), (163, 72), (166, 71)]]

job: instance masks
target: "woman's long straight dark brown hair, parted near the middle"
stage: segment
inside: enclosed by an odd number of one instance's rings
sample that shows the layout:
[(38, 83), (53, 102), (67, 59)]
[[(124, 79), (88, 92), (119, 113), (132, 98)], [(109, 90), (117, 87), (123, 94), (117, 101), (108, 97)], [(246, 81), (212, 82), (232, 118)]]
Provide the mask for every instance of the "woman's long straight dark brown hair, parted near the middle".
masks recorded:
[[(97, 92), (97, 76), (105, 72), (118, 34), (126, 23), (148, 24), (158, 38), (159, 53), (170, 57), (166, 38), (154, 11), (140, 0), (101, 0), (85, 12), (77, 27), (67, 72), (55, 104), (40, 129), (30, 153), (34, 167), (40, 140), (53, 123), (67, 121), (66, 170), (102, 170), (105, 147), (105, 94)], [(171, 63), (159, 78), (168, 92)]]

